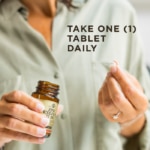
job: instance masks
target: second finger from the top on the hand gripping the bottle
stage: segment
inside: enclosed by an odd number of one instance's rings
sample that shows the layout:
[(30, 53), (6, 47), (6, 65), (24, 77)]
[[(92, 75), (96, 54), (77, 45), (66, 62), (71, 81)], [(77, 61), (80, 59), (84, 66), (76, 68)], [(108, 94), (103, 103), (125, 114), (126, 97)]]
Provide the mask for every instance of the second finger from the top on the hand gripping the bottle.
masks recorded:
[(45, 127), (49, 123), (49, 119), (43, 114), (32, 111), (18, 103), (3, 102), (0, 108), (0, 114), (11, 115), (41, 127)]

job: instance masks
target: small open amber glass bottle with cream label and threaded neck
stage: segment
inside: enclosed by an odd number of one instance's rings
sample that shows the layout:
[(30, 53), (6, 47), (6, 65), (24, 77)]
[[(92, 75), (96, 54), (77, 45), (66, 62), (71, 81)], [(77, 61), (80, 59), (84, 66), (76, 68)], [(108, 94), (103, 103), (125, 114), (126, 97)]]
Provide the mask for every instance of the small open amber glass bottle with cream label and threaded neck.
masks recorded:
[(54, 125), (56, 111), (59, 103), (57, 98), (59, 85), (50, 83), (48, 81), (39, 81), (36, 91), (32, 96), (39, 99), (45, 106), (43, 113), (49, 118), (49, 125), (46, 127), (45, 137), (51, 135), (51, 130)]

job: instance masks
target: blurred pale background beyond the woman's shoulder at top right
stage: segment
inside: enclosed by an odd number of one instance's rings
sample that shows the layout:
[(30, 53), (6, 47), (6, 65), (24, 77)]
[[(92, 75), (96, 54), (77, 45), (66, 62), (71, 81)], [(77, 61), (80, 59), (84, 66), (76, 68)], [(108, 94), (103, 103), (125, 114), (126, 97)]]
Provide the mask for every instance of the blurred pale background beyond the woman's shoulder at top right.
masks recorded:
[(150, 0), (129, 0), (137, 12), (146, 62), (150, 66)]

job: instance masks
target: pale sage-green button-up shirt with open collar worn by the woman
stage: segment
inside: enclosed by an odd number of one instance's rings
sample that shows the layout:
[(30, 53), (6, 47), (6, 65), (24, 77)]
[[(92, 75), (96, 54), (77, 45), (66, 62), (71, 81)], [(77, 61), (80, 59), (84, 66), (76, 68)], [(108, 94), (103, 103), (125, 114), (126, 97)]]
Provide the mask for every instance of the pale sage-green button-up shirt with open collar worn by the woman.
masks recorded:
[[(28, 11), (18, 0), (0, 4), (0, 96), (12, 90), (31, 94), (39, 80), (47, 80), (60, 85), (59, 99), (64, 105), (46, 143), (13, 141), (5, 150), (123, 150), (129, 140), (119, 134), (119, 124), (105, 119), (98, 107), (98, 91), (113, 60), (139, 80), (150, 98), (138, 33), (123, 31), (126, 25), (137, 27), (130, 4), (126, 0), (88, 0), (74, 5), (78, 8), (69, 10), (58, 2), (50, 49), (43, 36), (28, 24)], [(69, 32), (68, 25), (91, 25), (94, 32)], [(119, 32), (100, 33), (95, 30), (100, 25), (118, 25)], [(71, 42), (68, 35), (106, 37), (99, 42)], [(74, 50), (69, 51), (68, 45)], [(75, 51), (77, 45), (81, 51)], [(91, 45), (96, 45), (95, 49)], [(150, 148), (148, 111), (146, 116), (143, 131), (128, 150)]]

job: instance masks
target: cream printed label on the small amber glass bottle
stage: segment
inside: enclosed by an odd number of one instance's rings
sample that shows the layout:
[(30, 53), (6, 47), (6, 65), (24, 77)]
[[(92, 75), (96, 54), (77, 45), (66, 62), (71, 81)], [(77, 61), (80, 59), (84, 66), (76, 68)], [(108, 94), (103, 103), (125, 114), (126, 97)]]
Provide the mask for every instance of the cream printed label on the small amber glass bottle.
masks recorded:
[(45, 106), (43, 114), (45, 114), (45, 116), (49, 118), (49, 125), (46, 128), (51, 130), (54, 125), (58, 103), (49, 100), (40, 100), (40, 101)]

